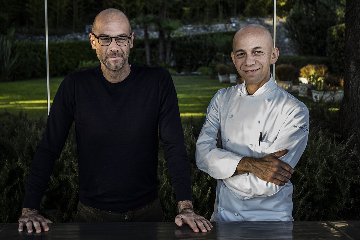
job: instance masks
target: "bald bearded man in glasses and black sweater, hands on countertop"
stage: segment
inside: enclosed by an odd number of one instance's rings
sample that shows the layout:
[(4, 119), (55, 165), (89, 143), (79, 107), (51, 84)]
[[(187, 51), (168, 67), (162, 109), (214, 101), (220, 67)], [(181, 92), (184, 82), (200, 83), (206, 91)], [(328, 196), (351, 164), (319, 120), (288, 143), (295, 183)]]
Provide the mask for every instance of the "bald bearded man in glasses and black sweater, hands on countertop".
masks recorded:
[(212, 225), (194, 213), (188, 156), (177, 96), (162, 67), (128, 62), (134, 32), (117, 9), (94, 20), (91, 45), (101, 62), (96, 68), (70, 73), (51, 106), (37, 146), (25, 190), (19, 231), (48, 231), (50, 220), (39, 207), (75, 121), (79, 165), (76, 222), (162, 221), (157, 195), (158, 130), (178, 202), (175, 222), (195, 232)]

